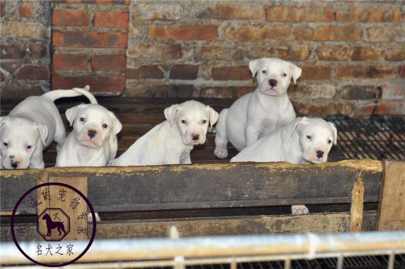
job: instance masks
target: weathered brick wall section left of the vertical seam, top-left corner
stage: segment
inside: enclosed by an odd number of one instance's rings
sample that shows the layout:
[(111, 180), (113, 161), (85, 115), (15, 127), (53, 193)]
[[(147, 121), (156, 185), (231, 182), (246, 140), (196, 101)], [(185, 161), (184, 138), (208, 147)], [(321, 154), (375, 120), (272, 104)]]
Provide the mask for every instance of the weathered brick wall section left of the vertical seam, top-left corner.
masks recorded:
[(1, 98), (23, 99), (49, 90), (51, 3), (1, 1)]

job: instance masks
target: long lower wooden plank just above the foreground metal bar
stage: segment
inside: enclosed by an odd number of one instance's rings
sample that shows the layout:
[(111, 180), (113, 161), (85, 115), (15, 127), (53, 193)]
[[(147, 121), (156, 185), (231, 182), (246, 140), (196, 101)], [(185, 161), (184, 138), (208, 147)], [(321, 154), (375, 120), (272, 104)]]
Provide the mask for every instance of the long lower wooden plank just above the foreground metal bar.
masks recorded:
[[(374, 230), (377, 213), (365, 212), (362, 230)], [(30, 224), (33, 226), (32, 224)], [(340, 233), (350, 228), (349, 213), (180, 218), (161, 220), (102, 221), (97, 223), (97, 238), (167, 237), (176, 226), (181, 237), (209, 235), (248, 235), (278, 233)], [(33, 226), (32, 228), (35, 229)], [(91, 225), (89, 230), (91, 229)], [(89, 233), (90, 235), (90, 233)], [(25, 234), (21, 240), (32, 240)], [(1, 240), (10, 241), (10, 228), (1, 227)]]

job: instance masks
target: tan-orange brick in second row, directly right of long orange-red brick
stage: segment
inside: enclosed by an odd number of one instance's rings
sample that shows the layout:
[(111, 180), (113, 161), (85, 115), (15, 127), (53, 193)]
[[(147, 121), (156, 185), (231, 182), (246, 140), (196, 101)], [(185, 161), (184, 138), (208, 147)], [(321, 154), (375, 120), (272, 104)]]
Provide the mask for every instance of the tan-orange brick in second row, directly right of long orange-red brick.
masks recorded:
[(230, 26), (225, 30), (231, 41), (293, 40), (292, 26)]

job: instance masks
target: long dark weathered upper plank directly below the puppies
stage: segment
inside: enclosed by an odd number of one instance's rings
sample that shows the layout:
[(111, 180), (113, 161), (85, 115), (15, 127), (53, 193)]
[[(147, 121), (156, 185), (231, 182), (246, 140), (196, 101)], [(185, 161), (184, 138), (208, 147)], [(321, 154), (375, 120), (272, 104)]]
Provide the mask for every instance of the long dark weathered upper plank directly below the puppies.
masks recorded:
[[(365, 183), (364, 202), (376, 202), (382, 162), (350, 160), (317, 165), (224, 163), (45, 170), (51, 177), (87, 176), (88, 198), (95, 210), (115, 212), (350, 203), (352, 186), (359, 171), (362, 171)], [(7, 209), (10, 210), (2, 207), (2, 211)]]

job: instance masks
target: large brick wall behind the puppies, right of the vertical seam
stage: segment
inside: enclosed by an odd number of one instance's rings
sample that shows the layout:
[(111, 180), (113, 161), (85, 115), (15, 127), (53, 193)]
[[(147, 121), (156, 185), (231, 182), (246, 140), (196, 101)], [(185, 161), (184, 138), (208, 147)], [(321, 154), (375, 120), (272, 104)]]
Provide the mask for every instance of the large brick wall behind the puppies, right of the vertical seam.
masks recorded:
[[(5, 17), (16, 12), (8, 4)], [(249, 61), (275, 56), (303, 69), (289, 89), (300, 113), (405, 114), (399, 1), (67, 0), (52, 9), (53, 89), (237, 98), (256, 87)]]

